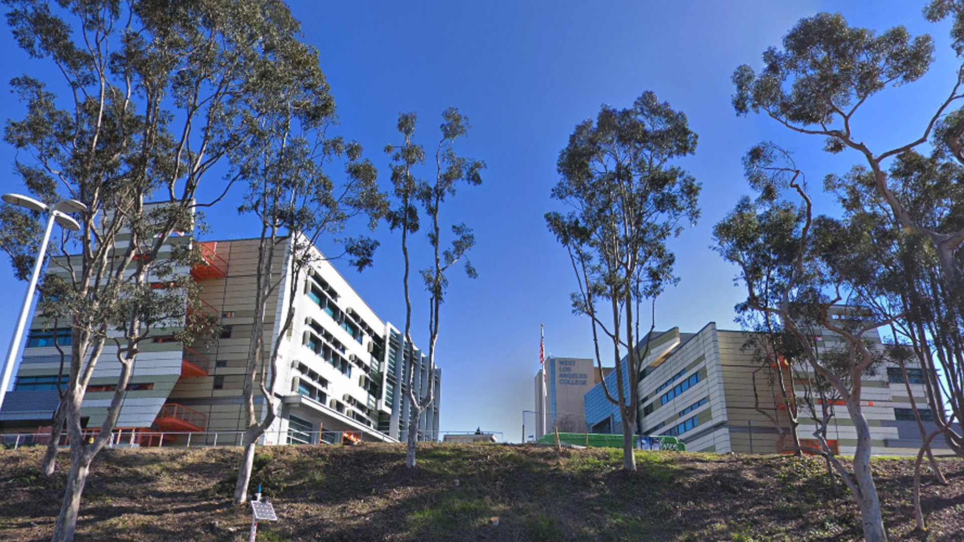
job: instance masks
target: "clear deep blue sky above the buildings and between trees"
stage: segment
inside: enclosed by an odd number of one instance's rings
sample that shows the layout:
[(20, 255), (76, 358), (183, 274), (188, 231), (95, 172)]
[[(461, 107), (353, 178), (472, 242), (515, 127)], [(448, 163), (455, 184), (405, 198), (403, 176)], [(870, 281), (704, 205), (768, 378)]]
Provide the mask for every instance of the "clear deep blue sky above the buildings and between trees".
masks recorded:
[[(914, 35), (930, 33), (937, 41), (931, 72), (875, 99), (856, 120), (859, 137), (880, 149), (916, 137), (933, 104), (950, 91), (956, 69), (945, 39), (948, 26), (924, 21), (923, 3), (914, 1), (289, 5), (305, 40), (320, 52), (337, 104), (337, 131), (362, 144), (386, 183), (382, 149), (399, 142), (399, 112), (418, 114), (416, 139), (427, 149), (438, 141), (443, 109), (456, 106), (469, 117), (469, 137), (457, 149), (485, 160), (488, 168), (482, 186), (461, 189), (443, 207), (442, 219), (474, 228), (477, 245), (469, 257), (479, 277), (453, 275), (442, 307), (442, 429), (481, 426), (509, 441), (521, 439), (522, 411), (534, 407), (540, 324), (546, 326), (548, 353), (592, 355), (589, 323), (570, 311), (576, 283), (569, 259), (543, 219), (549, 210), (564, 210), (549, 191), (558, 180), (559, 150), (577, 122), (595, 117), (603, 103), (628, 107), (647, 90), (687, 115), (699, 145), (678, 165), (703, 183), (703, 216), (672, 243), (681, 282), (657, 301), (656, 328), (696, 331), (715, 321), (732, 329), (733, 306), (743, 290), (733, 284), (735, 270), (709, 246), (712, 225), (749, 192), (741, 176), (743, 152), (762, 140), (780, 143), (796, 152), (815, 188), (824, 175), (843, 173), (857, 159), (822, 153), (822, 142), (796, 137), (762, 117), (737, 118), (730, 105), (734, 68), (759, 68), (767, 46), (779, 45), (799, 18), (820, 11), (839, 11), (851, 24), (877, 30), (905, 24)], [(0, 34), (0, 81), (7, 86), (13, 76), (38, 67), (15, 48), (9, 32)], [(13, 96), (0, 101), (0, 118), (22, 113)], [(10, 146), (0, 144), (3, 192), (20, 190), (13, 156)], [(234, 208), (228, 203), (206, 212), (207, 238), (254, 236), (254, 224)], [(376, 236), (382, 246), (373, 268), (358, 274), (339, 267), (375, 312), (400, 326), (398, 243), (384, 227)], [(0, 288), (18, 302), (25, 284), (13, 280), (4, 259)], [(414, 265), (428, 264), (422, 261)], [(415, 298), (418, 344), (427, 340), (423, 300)], [(14, 302), (0, 308), (0, 340), (7, 340), (16, 309)]]

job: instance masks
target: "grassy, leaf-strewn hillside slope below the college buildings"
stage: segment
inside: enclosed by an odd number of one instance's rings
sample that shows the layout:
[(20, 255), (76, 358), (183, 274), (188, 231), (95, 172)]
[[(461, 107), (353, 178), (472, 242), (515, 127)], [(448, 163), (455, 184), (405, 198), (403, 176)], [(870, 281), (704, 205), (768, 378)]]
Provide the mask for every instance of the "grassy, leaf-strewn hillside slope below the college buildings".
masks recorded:
[[(813, 458), (513, 445), (262, 448), (255, 474), (278, 512), (258, 540), (860, 539), (856, 509)], [(0, 451), (0, 540), (47, 540), (64, 490), (39, 475), (41, 449)], [(247, 540), (250, 507), (230, 504), (235, 448), (106, 450), (94, 463), (78, 540)], [(926, 535), (911, 533), (912, 462), (874, 463), (892, 540), (964, 540), (964, 461), (924, 487)]]

